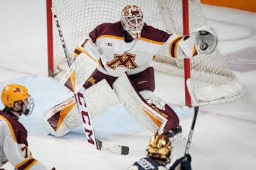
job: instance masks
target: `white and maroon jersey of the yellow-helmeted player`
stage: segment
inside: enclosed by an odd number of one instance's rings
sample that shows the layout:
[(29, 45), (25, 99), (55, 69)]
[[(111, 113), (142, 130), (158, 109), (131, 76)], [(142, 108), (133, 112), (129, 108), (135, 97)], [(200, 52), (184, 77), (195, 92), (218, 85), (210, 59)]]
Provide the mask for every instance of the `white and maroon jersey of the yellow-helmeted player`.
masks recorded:
[(27, 131), (16, 118), (0, 111), (0, 167), (6, 162), (17, 170), (46, 170), (28, 149)]

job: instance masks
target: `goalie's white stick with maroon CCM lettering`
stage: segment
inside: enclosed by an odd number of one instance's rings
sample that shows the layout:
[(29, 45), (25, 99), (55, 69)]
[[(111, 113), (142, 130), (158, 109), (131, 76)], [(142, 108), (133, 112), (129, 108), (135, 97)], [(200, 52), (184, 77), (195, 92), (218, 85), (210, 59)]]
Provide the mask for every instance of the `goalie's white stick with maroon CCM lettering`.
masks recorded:
[[(60, 29), (60, 24), (58, 22), (57, 14), (54, 12), (53, 8), (51, 8), (51, 10), (53, 12), (53, 18), (55, 20), (55, 24), (58, 28), (60, 41), (62, 43), (63, 50), (64, 50), (64, 53), (65, 53), (65, 57), (66, 57), (66, 60), (68, 62), (68, 67), (70, 67), (70, 65), (71, 65), (70, 57), (69, 57), (69, 54), (68, 54), (67, 47), (65, 45), (65, 41), (64, 41), (64, 38), (63, 38), (63, 33)], [(112, 152), (112, 153), (115, 153), (115, 154), (129, 154), (129, 147), (127, 147), (127, 146), (117, 145), (117, 144), (113, 144), (113, 143), (110, 143), (110, 142), (103, 142), (103, 141), (97, 139), (97, 137), (95, 136), (95, 132), (93, 130), (93, 127), (92, 127), (92, 121), (91, 121), (91, 118), (90, 118), (90, 113), (88, 113), (86, 103), (85, 103), (85, 98), (84, 98), (83, 94), (80, 93), (80, 91), (78, 91), (78, 94), (74, 94), (74, 96), (75, 96), (75, 101), (76, 101), (77, 106), (78, 106), (78, 111), (79, 111), (79, 113), (81, 115), (81, 118), (82, 118), (82, 125), (85, 128), (85, 136), (87, 138), (87, 142), (89, 142), (91, 145), (93, 145), (98, 150), (104, 150), (104, 151)]]

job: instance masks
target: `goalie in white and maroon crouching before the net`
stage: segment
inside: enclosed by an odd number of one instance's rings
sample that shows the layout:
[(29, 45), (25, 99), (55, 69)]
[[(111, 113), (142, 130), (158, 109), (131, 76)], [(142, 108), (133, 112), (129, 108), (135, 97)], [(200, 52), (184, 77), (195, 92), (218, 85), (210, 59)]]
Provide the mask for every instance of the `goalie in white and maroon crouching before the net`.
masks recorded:
[[(92, 117), (122, 103), (151, 132), (174, 140), (182, 128), (174, 110), (154, 94), (151, 63), (156, 54), (183, 59), (210, 53), (217, 42), (208, 26), (191, 37), (169, 34), (148, 26), (138, 6), (125, 6), (120, 21), (102, 23), (75, 48), (73, 64), (61, 82), (85, 96)], [(63, 136), (81, 124), (75, 104), (70, 98), (43, 115), (52, 135)]]

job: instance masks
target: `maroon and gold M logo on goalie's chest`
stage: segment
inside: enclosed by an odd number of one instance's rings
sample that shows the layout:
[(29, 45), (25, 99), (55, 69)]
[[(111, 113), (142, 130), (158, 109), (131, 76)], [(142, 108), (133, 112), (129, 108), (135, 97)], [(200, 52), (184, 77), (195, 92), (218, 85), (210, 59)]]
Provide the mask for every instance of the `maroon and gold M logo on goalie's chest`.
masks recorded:
[(114, 60), (107, 62), (107, 66), (111, 69), (116, 69), (116, 67), (125, 67), (127, 69), (134, 69), (137, 64), (134, 62), (135, 55), (128, 52), (124, 52), (124, 55), (114, 55)]

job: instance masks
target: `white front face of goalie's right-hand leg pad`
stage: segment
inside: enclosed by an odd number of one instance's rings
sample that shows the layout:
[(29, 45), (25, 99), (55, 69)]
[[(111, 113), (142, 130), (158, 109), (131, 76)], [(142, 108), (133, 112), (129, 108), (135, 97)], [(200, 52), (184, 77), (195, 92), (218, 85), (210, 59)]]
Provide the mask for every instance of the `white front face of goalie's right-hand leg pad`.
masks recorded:
[(119, 101), (124, 104), (124, 107), (127, 109), (128, 113), (132, 115), (139, 123), (142, 123), (146, 128), (151, 130), (151, 132), (156, 132), (159, 127), (154, 123), (154, 121), (149, 117), (153, 116), (159, 122), (165, 123), (166, 118), (150, 108), (142, 98), (137, 94), (137, 91), (134, 90), (132, 84), (129, 81), (129, 78), (126, 74), (123, 74), (119, 77), (113, 84), (114, 91), (119, 97)]

